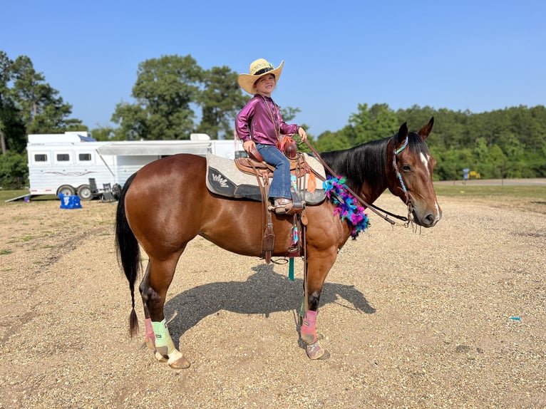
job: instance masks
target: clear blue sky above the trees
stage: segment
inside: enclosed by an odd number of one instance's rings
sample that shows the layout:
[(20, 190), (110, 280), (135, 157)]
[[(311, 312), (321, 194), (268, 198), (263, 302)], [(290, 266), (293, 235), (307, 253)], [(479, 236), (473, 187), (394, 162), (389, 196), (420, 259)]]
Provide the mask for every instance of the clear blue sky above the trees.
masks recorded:
[(546, 102), (542, 0), (5, 0), (0, 11), (0, 50), (29, 56), (90, 129), (133, 101), (139, 63), (174, 54), (237, 73), (284, 60), (274, 100), (299, 108), (311, 135), (343, 128), (359, 103), (479, 113)]

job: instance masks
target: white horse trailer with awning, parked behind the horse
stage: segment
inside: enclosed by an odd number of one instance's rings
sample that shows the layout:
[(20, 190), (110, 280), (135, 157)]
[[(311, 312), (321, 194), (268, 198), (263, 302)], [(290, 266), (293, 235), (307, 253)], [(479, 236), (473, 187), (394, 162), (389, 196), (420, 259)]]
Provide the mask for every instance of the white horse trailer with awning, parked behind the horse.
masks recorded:
[[(105, 187), (113, 191), (144, 165), (177, 153), (207, 152), (234, 158), (242, 145), (192, 134), (190, 140), (98, 142), (87, 132), (29, 135), (29, 195), (78, 195), (91, 200)], [(28, 196), (28, 195), (26, 195)]]

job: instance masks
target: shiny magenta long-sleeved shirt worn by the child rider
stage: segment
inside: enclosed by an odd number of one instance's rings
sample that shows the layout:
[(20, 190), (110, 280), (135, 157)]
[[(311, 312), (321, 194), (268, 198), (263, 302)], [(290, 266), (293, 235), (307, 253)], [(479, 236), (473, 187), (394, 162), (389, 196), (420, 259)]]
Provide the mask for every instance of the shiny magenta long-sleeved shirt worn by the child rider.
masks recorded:
[[(272, 122), (271, 115), (273, 115), (275, 123)], [(299, 125), (285, 123), (282, 120), (279, 107), (272, 98), (254, 95), (237, 114), (235, 131), (237, 137), (243, 142), (252, 139), (254, 143), (275, 145), (277, 143), (277, 123), (280, 125), (281, 135), (298, 133)]]

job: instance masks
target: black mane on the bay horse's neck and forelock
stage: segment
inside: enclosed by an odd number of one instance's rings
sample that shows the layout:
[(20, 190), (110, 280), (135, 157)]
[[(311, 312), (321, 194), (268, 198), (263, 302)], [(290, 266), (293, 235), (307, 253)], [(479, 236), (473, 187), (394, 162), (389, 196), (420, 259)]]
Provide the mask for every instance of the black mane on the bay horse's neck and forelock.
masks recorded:
[[(352, 190), (358, 190), (366, 180), (372, 180), (375, 184), (383, 183), (386, 179), (387, 145), (393, 138), (396, 135), (320, 155), (331, 170), (336, 172), (335, 176), (346, 177), (346, 185)], [(414, 155), (419, 152), (429, 154), (426, 143), (414, 132), (408, 134), (408, 148)], [(329, 174), (327, 170), (326, 173)]]

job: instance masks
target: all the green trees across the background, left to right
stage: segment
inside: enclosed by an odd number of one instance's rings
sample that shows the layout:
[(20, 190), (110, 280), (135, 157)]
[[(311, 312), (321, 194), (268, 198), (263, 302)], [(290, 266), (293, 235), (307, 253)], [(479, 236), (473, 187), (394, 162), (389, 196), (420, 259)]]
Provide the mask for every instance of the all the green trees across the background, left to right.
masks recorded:
[[(93, 129), (93, 137), (173, 140), (207, 133), (213, 139), (233, 138), (235, 115), (249, 98), (240, 90), (237, 75), (227, 66), (205, 70), (190, 55), (143, 61), (131, 93), (133, 102), (118, 103), (110, 118), (116, 126)], [(89, 130), (71, 113), (72, 105), (35, 70), (31, 58), (11, 60), (0, 51), (0, 186), (26, 182), (26, 135)], [(297, 113), (299, 108), (282, 108), (287, 121)], [(404, 122), (418, 128), (431, 116), (435, 126), (428, 145), (438, 162), (437, 180), (460, 179), (465, 168), (483, 178), (546, 176), (542, 105), (470, 113), (418, 105), (395, 111), (385, 103), (363, 103), (344, 128), (309, 134), (309, 139), (319, 152), (347, 149), (393, 135)]]

